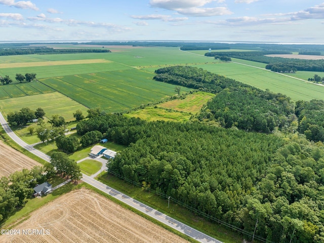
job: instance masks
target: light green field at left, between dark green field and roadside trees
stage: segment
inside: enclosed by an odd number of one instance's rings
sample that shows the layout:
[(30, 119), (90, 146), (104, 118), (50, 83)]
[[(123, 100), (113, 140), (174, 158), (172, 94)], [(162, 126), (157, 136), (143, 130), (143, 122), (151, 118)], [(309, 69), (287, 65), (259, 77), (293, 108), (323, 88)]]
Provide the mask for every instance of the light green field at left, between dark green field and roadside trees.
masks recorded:
[(76, 110), (81, 110), (84, 115), (87, 115), (88, 110), (87, 107), (80, 105), (75, 100), (59, 92), (0, 100), (0, 110), (5, 117), (7, 117), (9, 112), (19, 111), (24, 107), (29, 107), (33, 111), (37, 108), (43, 108), (47, 118), (51, 118), (52, 115), (58, 114), (63, 116), (66, 121), (75, 120), (73, 113)]

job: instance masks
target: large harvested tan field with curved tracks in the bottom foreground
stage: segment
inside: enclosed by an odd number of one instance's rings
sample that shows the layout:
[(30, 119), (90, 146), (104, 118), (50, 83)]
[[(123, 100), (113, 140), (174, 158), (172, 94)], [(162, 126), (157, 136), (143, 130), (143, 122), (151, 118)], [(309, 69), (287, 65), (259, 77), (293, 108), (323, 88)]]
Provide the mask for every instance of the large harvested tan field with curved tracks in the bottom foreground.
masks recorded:
[[(15, 229), (21, 234), (2, 235), (0, 242), (188, 242), (85, 188), (49, 202)], [(44, 235), (22, 235), (23, 229), (43, 229)]]

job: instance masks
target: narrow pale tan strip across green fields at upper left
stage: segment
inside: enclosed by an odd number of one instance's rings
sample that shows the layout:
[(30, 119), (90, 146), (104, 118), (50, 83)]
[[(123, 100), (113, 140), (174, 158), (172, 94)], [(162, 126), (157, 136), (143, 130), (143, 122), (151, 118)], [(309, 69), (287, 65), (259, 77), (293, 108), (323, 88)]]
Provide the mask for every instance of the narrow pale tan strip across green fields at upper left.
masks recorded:
[(89, 63), (105, 63), (111, 62), (106, 59), (85, 59), (85, 60), (65, 60), (65, 61), (35, 61), (35, 62), (16, 62), (3, 63), (1, 68), (11, 67), (30, 67), (30, 66), (55, 66), (55, 65), (70, 65), (70, 64), (89, 64)]

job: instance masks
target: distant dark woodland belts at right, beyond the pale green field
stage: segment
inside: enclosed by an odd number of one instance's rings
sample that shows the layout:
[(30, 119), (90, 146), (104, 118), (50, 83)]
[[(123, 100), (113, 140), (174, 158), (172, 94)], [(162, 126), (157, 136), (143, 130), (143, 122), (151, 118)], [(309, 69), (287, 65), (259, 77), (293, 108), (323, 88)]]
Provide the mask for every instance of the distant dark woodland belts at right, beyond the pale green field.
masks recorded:
[[(310, 52), (303, 52), (309, 53)], [(316, 52), (317, 54), (319, 52)], [(207, 52), (206, 56), (229, 56), (232, 58), (245, 59), (266, 63), (266, 69), (274, 72), (296, 72), (296, 71), (315, 71), (324, 72), (324, 59), (303, 60), (297, 58), (270, 57), (271, 54), (291, 54), (286, 51), (247, 51), (247, 52)], [(320, 54), (320, 53), (319, 53)]]

